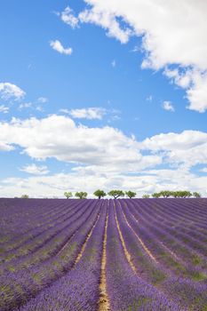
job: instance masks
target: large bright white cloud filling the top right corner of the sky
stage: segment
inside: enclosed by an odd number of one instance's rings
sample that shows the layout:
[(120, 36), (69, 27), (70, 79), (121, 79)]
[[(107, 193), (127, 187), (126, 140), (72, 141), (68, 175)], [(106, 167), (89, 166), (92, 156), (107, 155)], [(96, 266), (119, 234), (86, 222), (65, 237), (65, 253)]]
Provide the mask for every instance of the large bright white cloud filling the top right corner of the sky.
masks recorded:
[[(92, 23), (107, 30), (107, 35), (121, 43), (131, 36), (141, 37), (144, 52), (142, 68), (155, 70), (193, 69), (197, 75), (182, 76), (179, 86), (187, 89), (188, 108), (204, 112), (207, 109), (207, 2), (199, 0), (85, 0), (80, 12), (81, 22)], [(138, 47), (136, 48), (136, 51)]]

